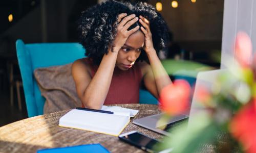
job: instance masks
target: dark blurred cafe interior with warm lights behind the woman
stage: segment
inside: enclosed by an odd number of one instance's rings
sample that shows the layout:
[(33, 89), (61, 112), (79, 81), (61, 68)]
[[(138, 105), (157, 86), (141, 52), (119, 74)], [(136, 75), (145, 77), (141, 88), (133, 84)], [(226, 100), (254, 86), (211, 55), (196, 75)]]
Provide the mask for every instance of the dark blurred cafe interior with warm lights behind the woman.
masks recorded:
[[(78, 42), (81, 11), (102, 1), (8, 0), (0, 2), (0, 126), (28, 117), (15, 41)], [(140, 2), (140, 1), (130, 1)], [(162, 14), (172, 40), (161, 59), (220, 68), (224, 0), (148, 0)], [(19, 103), (21, 105), (19, 105)]]

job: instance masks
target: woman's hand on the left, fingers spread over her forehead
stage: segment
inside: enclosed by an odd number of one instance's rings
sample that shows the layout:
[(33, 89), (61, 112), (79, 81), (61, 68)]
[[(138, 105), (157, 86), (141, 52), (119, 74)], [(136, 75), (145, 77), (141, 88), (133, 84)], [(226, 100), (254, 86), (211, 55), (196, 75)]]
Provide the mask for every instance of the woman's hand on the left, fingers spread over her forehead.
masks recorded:
[(114, 40), (114, 47), (118, 48), (118, 50), (124, 45), (127, 38), (132, 35), (134, 32), (139, 30), (139, 25), (131, 30), (128, 29), (133, 25), (136, 21), (138, 21), (138, 17), (135, 14), (131, 14), (126, 16), (126, 13), (121, 13), (118, 15), (118, 26), (117, 26), (117, 35)]

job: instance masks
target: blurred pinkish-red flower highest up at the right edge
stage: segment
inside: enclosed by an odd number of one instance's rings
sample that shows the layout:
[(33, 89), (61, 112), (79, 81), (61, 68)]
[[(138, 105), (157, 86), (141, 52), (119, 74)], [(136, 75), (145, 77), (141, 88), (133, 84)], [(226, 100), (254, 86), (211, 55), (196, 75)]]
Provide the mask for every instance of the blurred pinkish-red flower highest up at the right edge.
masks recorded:
[(250, 65), (252, 44), (250, 37), (245, 32), (239, 32), (237, 34), (234, 53), (237, 61), (241, 66), (247, 67)]

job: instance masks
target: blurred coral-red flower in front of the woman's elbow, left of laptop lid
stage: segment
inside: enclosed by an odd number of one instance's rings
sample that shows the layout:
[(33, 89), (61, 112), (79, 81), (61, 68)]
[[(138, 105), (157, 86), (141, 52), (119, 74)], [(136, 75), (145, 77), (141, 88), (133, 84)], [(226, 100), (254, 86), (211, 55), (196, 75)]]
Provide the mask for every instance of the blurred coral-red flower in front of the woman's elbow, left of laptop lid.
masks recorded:
[(182, 113), (188, 109), (189, 97), (189, 83), (177, 80), (162, 89), (159, 98), (160, 109), (169, 115)]

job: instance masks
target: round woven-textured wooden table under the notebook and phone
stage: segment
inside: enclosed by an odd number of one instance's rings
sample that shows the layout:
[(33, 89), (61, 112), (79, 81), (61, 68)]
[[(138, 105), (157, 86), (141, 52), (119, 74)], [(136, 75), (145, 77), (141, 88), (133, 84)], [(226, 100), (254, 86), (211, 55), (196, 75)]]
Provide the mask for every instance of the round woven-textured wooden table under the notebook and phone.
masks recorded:
[[(163, 137), (132, 123), (134, 119), (161, 113), (158, 105), (124, 104), (111, 106), (139, 110), (139, 113), (131, 118), (131, 122), (122, 133), (136, 130), (152, 138)], [(100, 143), (111, 152), (143, 152), (130, 144), (120, 141), (115, 136), (58, 126), (59, 118), (69, 111), (39, 115), (0, 127), (0, 152), (36, 152), (36, 150), (42, 148), (91, 143)]]

